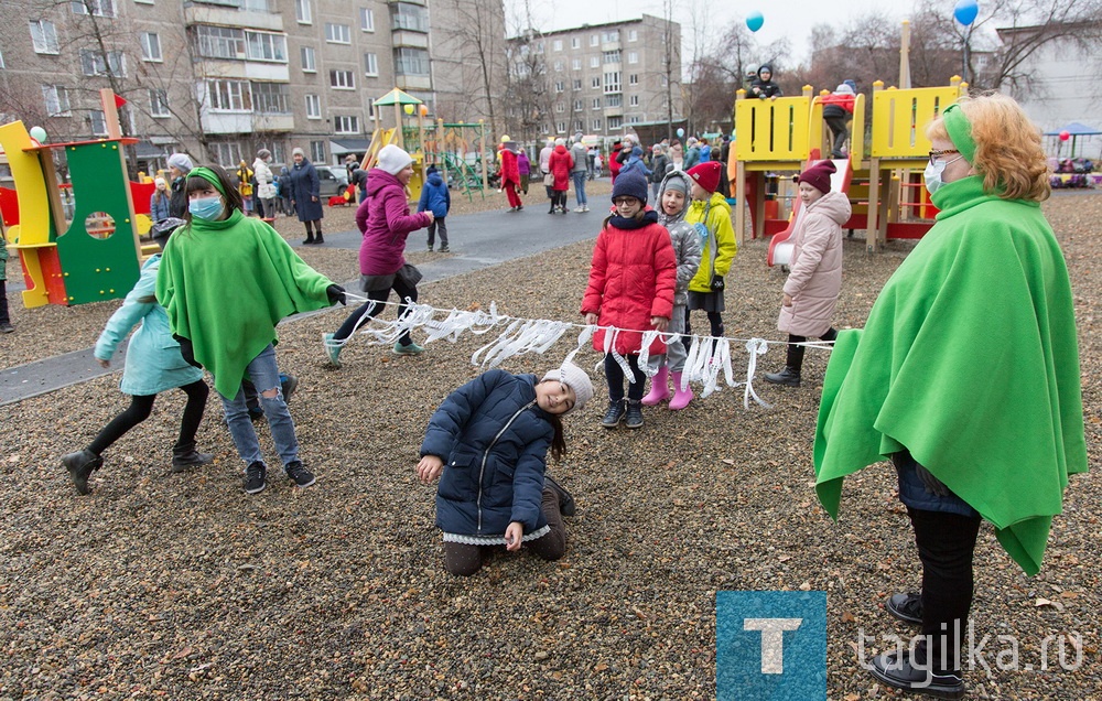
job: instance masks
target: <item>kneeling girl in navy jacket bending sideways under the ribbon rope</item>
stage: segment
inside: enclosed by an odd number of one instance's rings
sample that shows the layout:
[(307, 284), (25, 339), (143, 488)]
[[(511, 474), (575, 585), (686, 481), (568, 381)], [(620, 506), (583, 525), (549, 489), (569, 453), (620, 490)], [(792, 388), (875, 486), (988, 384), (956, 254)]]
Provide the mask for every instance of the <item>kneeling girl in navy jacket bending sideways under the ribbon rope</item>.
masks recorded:
[(547, 455), (566, 453), (562, 417), (592, 397), (588, 375), (570, 362), (542, 380), (493, 369), (432, 414), (417, 473), (425, 484), (441, 478), (436, 526), (451, 574), (474, 574), (494, 547), (563, 556), (562, 516), (573, 516), (574, 499), (545, 474)]

